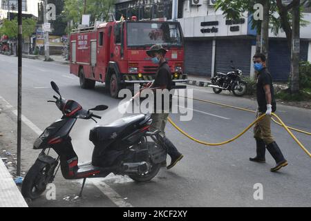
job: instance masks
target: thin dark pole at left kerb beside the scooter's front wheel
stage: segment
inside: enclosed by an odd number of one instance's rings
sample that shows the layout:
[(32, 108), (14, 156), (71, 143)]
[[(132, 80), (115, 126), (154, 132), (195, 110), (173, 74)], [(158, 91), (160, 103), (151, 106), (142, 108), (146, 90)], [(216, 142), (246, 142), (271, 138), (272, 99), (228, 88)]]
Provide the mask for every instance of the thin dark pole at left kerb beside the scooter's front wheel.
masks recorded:
[(18, 90), (17, 90), (17, 176), (21, 175), (21, 40), (23, 25), (21, 20), (21, 0), (18, 1)]

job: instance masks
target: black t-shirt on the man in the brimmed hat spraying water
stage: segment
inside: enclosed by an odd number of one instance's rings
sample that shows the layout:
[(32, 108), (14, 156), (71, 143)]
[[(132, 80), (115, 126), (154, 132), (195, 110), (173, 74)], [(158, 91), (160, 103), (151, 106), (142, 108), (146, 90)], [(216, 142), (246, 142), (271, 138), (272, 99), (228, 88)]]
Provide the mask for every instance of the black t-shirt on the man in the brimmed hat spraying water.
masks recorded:
[[(167, 90), (171, 90), (172, 87), (172, 81), (171, 81), (171, 69), (169, 68), (169, 64), (167, 61), (164, 61), (162, 64), (160, 64), (158, 68), (158, 72), (156, 74), (156, 79), (153, 83), (153, 87), (160, 87), (160, 86), (167, 86)], [(156, 91), (154, 91), (154, 109), (156, 110)], [(162, 95), (162, 111), (164, 111), (164, 95)], [(169, 108), (171, 108), (171, 99), (172, 97), (169, 96)], [(165, 110), (169, 111), (169, 110)]]

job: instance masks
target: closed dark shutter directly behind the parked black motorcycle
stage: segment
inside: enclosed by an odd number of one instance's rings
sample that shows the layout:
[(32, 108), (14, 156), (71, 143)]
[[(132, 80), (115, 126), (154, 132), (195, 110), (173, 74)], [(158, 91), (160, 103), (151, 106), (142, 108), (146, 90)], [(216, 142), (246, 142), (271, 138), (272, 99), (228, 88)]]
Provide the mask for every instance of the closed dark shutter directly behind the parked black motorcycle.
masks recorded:
[(252, 42), (248, 39), (220, 39), (216, 40), (215, 71), (228, 73), (232, 71), (230, 61), (243, 71), (244, 75), (250, 73), (252, 56)]

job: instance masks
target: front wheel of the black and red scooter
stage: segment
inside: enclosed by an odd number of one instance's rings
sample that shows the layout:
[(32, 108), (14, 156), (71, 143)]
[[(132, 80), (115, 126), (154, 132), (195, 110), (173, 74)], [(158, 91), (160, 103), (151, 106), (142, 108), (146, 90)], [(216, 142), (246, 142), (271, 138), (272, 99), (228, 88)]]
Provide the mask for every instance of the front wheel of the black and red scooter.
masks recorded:
[(37, 160), (31, 166), (21, 185), (21, 194), (24, 198), (35, 200), (44, 193), (48, 184), (50, 165)]

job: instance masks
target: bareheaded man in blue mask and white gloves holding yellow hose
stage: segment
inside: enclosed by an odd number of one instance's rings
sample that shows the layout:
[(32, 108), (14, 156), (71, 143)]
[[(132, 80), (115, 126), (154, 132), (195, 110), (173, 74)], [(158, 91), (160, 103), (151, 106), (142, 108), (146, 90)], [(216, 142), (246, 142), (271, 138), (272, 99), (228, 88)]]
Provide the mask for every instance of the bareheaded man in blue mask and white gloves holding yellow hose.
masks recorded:
[(270, 152), (276, 166), (271, 169), (272, 172), (279, 171), (283, 166), (287, 166), (288, 162), (283, 157), (279, 146), (274, 141), (271, 134), (271, 115), (276, 111), (276, 102), (274, 99), (274, 88), (272, 85), (272, 77), (266, 68), (265, 55), (258, 54), (254, 56), (254, 68), (258, 73), (257, 79), (257, 103), (258, 108), (256, 117), (265, 117), (254, 127), (254, 138), (256, 140), (256, 157), (249, 158), (253, 162), (265, 162), (265, 148)]

